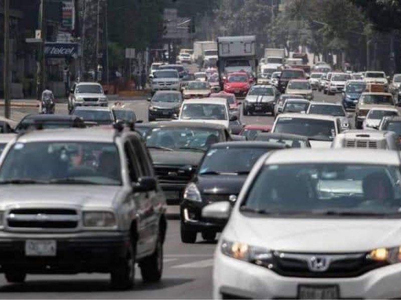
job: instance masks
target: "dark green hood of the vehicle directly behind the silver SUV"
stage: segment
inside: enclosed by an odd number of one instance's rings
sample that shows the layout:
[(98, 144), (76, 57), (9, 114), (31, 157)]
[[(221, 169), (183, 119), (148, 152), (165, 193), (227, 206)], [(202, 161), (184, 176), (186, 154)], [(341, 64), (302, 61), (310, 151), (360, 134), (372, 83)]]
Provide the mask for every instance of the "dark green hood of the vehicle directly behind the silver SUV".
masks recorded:
[(154, 165), (193, 165), (197, 166), (202, 159), (202, 151), (165, 151), (149, 149)]

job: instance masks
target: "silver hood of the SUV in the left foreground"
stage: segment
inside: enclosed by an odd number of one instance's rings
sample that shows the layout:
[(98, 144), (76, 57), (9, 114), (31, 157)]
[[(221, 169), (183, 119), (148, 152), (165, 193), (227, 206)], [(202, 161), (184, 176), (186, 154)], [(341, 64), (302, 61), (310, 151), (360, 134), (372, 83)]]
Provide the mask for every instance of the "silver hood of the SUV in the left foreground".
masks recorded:
[(122, 186), (84, 184), (18, 184), (0, 188), (0, 208), (12, 206), (110, 207)]

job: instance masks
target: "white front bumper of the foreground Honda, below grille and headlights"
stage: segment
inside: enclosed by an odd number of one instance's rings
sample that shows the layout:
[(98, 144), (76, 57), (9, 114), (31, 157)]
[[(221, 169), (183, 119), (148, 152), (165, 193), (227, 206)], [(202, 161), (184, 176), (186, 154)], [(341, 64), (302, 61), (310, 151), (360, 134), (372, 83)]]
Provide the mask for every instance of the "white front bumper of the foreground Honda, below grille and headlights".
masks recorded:
[(249, 262), (228, 257), (216, 249), (213, 271), (213, 298), (298, 298), (300, 284), (337, 285), (340, 298), (400, 298), (401, 264), (371, 270), (347, 278), (285, 277)]

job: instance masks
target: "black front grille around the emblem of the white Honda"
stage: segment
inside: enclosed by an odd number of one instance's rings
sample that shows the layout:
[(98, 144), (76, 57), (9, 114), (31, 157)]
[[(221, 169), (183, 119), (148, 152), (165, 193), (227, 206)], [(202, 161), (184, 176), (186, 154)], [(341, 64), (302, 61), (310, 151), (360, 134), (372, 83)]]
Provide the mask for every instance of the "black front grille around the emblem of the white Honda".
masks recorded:
[[(328, 268), (324, 271), (312, 271), (308, 261), (312, 257), (326, 257), (329, 259)], [(372, 269), (387, 265), (387, 262), (373, 261), (366, 258), (366, 253), (330, 255), (330, 254), (273, 254), (273, 265), (269, 265), (276, 273), (288, 277), (356, 277)]]

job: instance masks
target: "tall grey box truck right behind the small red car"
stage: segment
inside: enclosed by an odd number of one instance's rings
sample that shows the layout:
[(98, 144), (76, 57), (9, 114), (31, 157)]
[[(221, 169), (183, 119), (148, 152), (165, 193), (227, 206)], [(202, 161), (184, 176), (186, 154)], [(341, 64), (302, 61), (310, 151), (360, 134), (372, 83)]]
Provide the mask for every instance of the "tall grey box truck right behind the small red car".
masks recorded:
[(255, 77), (258, 67), (255, 35), (220, 36), (217, 38), (217, 47), (221, 84), (223, 77), (229, 72), (246, 71)]

